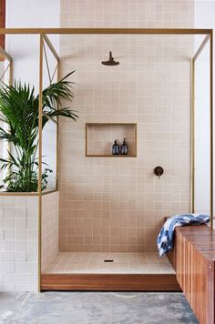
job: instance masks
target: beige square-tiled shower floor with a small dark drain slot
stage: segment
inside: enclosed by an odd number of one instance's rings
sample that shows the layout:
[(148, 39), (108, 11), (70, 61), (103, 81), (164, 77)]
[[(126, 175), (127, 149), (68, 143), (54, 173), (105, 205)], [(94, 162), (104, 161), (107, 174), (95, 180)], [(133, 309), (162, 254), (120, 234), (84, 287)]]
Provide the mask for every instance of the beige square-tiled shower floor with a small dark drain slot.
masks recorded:
[[(105, 262), (104, 260), (113, 260)], [(43, 273), (175, 273), (158, 253), (59, 252)]]

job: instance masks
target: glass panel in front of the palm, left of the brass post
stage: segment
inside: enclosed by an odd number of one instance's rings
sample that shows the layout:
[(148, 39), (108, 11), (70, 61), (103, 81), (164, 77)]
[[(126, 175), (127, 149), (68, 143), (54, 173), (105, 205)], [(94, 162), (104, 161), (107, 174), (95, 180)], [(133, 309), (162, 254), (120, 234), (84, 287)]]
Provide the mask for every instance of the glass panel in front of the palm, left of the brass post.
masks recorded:
[[(33, 140), (33, 128), (30, 125), (33, 112), (30, 112), (30, 107), (38, 95), (38, 48), (38, 35), (22, 34), (5, 35), (5, 49), (0, 49), (1, 56), (6, 58), (4, 62), (1, 61), (0, 68), (1, 87), (5, 88), (4, 91), (7, 96), (7, 109), (2, 112), (2, 116), (5, 117), (5, 120), (13, 121), (10, 126), (12, 130), (9, 129), (9, 123), (2, 124), (8, 135), (5, 140), (1, 141), (0, 145), (1, 157), (6, 160), (3, 172), (0, 172), (0, 184), (4, 185), (3, 191), (27, 192), (36, 191), (37, 189), (37, 167), (34, 164), (37, 152), (36, 149), (33, 150), (33, 147), (36, 147), (38, 137), (35, 136), (33, 146), (31, 143)], [(16, 98), (11, 95), (12, 89), (5, 86), (10, 84), (15, 87), (13, 91), (15, 91)], [(23, 96), (24, 92), (28, 97), (27, 104)], [(5, 103), (3, 106), (6, 106)], [(13, 134), (13, 137), (10, 136), (10, 133)], [(9, 142), (8, 138), (10, 138)], [(10, 178), (7, 176), (10, 176)], [(3, 179), (5, 179), (5, 184)]]

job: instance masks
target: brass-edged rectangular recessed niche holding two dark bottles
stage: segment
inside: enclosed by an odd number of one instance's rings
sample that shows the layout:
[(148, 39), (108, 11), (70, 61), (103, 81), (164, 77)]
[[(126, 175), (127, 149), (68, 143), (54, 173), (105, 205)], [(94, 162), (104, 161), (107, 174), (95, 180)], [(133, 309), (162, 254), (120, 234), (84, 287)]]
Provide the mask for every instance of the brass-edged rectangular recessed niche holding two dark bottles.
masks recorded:
[[(126, 138), (128, 155), (112, 155), (115, 139), (119, 147)], [(135, 123), (87, 123), (86, 157), (137, 157), (137, 124)]]

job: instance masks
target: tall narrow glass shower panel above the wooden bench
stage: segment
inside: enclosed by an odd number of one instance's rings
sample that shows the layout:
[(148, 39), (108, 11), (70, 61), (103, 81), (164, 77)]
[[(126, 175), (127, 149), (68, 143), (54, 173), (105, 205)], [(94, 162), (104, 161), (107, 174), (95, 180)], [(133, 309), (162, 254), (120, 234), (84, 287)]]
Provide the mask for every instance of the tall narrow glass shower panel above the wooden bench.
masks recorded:
[(210, 44), (195, 62), (194, 211), (210, 214)]

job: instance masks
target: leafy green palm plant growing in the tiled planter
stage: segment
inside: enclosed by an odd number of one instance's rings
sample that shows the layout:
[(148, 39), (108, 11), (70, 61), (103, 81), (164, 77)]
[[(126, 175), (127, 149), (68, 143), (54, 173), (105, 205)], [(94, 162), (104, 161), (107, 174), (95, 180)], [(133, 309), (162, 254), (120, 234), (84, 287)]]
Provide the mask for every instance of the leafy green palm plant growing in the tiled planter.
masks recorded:
[[(67, 77), (47, 86), (42, 92), (42, 127), (50, 118), (64, 116), (77, 120), (77, 114), (70, 107), (63, 107), (61, 99), (72, 101), (72, 82)], [(11, 144), (8, 158), (0, 158), (1, 169), (8, 172), (3, 179), (2, 189), (9, 192), (34, 192), (38, 187), (38, 106), (39, 95), (35, 88), (15, 82), (15, 86), (0, 88), (0, 120), (6, 127), (0, 127), (0, 139)], [(47, 186), (48, 174), (42, 174), (42, 189)]]

